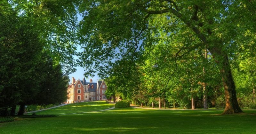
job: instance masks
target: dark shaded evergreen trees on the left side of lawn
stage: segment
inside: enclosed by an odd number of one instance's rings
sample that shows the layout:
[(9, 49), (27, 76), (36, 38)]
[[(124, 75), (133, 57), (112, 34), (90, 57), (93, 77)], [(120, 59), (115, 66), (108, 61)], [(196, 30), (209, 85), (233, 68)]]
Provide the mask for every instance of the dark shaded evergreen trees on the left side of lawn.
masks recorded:
[(0, 3), (0, 116), (14, 115), (16, 105), (22, 115), (27, 104), (67, 99), (68, 76), (37, 28), (32, 18)]

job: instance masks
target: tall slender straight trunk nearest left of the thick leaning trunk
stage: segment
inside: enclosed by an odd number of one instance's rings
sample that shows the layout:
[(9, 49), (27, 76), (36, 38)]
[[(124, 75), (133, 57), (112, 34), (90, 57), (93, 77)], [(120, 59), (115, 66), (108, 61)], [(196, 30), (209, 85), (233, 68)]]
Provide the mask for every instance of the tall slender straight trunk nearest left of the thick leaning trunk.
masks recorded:
[[(204, 58), (205, 60), (207, 60), (207, 49), (205, 48), (204, 50)], [(203, 98), (204, 98), (204, 109), (208, 109), (208, 95), (207, 95), (207, 88), (206, 88), (206, 82), (205, 82), (205, 68), (203, 67), (203, 72), (204, 72), (204, 82), (203, 82)]]

